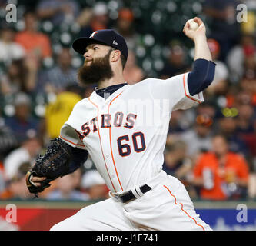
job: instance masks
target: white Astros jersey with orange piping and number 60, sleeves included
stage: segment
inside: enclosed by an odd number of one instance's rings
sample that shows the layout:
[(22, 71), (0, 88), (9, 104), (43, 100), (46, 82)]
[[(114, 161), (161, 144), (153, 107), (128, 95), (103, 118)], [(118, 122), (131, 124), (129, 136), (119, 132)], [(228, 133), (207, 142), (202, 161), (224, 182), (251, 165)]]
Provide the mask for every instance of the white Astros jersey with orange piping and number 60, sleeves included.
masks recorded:
[(161, 171), (171, 111), (204, 101), (189, 94), (187, 78), (148, 78), (106, 99), (94, 91), (75, 105), (60, 138), (88, 151), (110, 191), (145, 184)]

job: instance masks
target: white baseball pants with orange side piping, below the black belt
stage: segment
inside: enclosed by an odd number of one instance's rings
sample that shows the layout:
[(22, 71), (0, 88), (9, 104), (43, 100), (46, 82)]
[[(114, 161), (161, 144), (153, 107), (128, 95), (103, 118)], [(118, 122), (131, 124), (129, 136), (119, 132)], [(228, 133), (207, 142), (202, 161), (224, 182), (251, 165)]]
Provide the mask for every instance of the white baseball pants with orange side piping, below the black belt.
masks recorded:
[(199, 218), (183, 184), (165, 171), (147, 183), (152, 189), (123, 204), (111, 197), (82, 208), (52, 231), (211, 231)]

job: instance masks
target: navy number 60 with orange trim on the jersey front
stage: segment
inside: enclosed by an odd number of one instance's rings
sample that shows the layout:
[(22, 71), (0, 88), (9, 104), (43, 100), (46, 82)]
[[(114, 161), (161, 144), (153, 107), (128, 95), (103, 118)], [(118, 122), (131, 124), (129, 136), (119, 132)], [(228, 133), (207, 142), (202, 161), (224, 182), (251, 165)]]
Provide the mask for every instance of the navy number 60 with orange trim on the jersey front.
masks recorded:
[[(141, 131), (135, 132), (131, 136), (131, 138), (132, 138), (133, 148), (135, 149), (135, 152), (139, 153), (145, 150), (146, 148), (145, 137)], [(131, 154), (131, 146), (128, 145), (128, 143), (124, 143), (124, 141), (129, 141), (128, 135), (124, 135), (118, 138), (118, 151), (119, 151), (119, 155), (121, 155), (122, 157), (125, 157)], [(140, 142), (140, 144), (138, 144), (138, 142)]]

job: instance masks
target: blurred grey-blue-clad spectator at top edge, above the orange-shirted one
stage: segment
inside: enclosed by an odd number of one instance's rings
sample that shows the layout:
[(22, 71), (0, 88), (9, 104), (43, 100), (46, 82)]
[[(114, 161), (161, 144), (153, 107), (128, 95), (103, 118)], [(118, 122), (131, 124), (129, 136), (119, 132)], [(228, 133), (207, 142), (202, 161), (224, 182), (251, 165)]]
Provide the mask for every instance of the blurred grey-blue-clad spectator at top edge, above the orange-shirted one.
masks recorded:
[(75, 20), (79, 14), (79, 5), (74, 0), (41, 0), (36, 13), (38, 18), (48, 19), (53, 25), (61, 25), (62, 22), (71, 23)]

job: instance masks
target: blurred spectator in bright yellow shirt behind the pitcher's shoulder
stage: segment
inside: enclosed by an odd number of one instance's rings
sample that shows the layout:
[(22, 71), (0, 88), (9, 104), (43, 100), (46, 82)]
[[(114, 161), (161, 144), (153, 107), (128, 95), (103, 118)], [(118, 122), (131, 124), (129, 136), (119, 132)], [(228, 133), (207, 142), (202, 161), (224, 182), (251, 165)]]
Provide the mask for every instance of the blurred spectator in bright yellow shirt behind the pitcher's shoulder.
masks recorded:
[(57, 95), (54, 102), (47, 105), (44, 124), (48, 138), (58, 138), (62, 125), (68, 120), (73, 107), (82, 99), (78, 92), (78, 85), (69, 85), (65, 91)]

